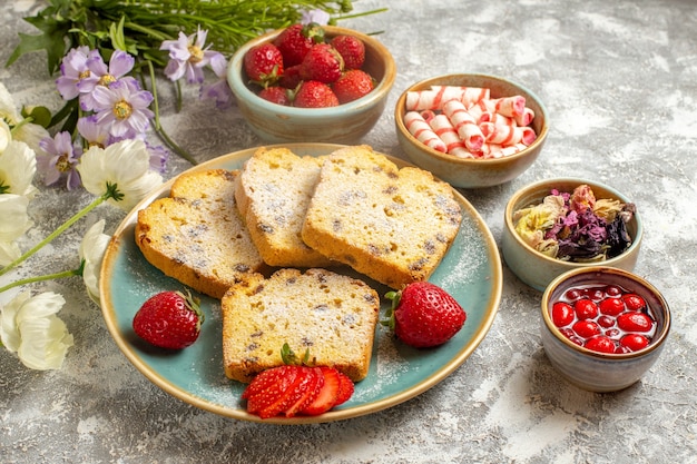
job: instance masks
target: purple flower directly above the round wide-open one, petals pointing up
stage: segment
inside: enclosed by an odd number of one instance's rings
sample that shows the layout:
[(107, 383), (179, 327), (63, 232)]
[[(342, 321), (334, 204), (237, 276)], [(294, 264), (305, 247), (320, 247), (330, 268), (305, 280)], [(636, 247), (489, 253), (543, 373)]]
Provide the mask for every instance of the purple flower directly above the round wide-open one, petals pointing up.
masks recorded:
[(109, 59), (109, 66), (104, 62), (101, 55), (97, 50), (90, 52), (87, 60), (87, 67), (90, 71), (89, 77), (82, 79), (78, 83), (80, 90), (80, 107), (84, 110), (100, 110), (98, 102), (95, 100), (95, 89), (99, 87), (109, 87), (119, 80), (128, 80), (131, 85), (137, 85), (135, 78), (128, 75), (132, 69), (136, 60), (134, 57), (122, 50), (116, 50)]

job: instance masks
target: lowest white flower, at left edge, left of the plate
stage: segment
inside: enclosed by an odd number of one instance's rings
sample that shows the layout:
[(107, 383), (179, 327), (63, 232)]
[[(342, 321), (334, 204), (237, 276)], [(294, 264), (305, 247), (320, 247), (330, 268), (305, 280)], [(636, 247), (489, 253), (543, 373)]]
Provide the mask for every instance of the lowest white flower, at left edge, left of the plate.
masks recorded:
[(73, 343), (66, 324), (56, 316), (65, 304), (65, 298), (52, 292), (33, 297), (28, 292), (18, 294), (1, 308), (2, 344), (29, 368), (60, 368)]

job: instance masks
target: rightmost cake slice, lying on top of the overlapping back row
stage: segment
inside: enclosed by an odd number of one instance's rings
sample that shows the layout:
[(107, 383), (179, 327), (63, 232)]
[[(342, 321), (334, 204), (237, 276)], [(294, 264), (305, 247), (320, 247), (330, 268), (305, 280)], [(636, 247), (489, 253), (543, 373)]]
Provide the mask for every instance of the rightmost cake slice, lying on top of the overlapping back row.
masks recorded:
[(428, 280), (461, 220), (449, 184), (356, 146), (325, 157), (302, 237), (324, 256), (399, 289)]

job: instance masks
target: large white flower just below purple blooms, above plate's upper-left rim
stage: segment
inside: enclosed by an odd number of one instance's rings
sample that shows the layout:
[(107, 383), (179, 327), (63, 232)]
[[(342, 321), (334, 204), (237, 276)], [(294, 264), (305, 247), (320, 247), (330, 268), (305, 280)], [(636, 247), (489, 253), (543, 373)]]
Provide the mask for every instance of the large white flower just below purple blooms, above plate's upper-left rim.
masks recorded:
[(149, 167), (150, 154), (145, 142), (127, 139), (107, 148), (90, 147), (80, 158), (77, 170), (82, 186), (92, 195), (102, 196), (107, 184), (116, 185), (124, 198), (120, 201), (110, 198), (109, 203), (129, 211), (163, 184), (163, 177)]

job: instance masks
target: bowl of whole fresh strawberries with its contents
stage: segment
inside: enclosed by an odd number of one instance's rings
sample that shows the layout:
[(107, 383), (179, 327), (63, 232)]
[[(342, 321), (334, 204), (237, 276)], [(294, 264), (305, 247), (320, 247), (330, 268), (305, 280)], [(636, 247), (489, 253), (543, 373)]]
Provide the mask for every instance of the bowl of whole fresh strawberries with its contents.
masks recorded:
[(381, 117), (395, 76), (377, 39), (315, 23), (248, 41), (227, 70), (247, 125), (274, 144), (356, 142)]

